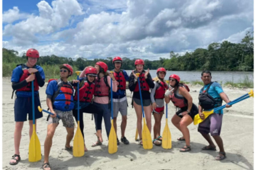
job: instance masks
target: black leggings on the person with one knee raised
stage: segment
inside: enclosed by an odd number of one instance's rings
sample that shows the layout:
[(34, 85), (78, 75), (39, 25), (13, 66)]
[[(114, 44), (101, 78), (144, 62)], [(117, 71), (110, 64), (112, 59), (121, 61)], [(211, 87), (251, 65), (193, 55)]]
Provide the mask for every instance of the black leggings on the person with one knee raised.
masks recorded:
[[(79, 121), (80, 121), (80, 129), (82, 132), (82, 135), (84, 137), (84, 120), (83, 120), (83, 113), (102, 113), (103, 110), (100, 109), (99, 107), (95, 106), (93, 103), (90, 103), (88, 106), (86, 106), (85, 108), (82, 108), (79, 110)], [(77, 122), (77, 109), (73, 109), (73, 116), (76, 119)]]

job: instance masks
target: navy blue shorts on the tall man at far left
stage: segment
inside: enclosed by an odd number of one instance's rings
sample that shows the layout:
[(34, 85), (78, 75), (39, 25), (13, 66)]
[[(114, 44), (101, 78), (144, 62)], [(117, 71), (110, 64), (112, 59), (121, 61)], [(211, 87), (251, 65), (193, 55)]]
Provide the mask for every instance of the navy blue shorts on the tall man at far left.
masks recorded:
[[(43, 117), (42, 112), (39, 112), (37, 107), (40, 106), (39, 96), (35, 94), (35, 119)], [(32, 97), (17, 97), (14, 103), (14, 117), (15, 122), (24, 122), (28, 120), (33, 120), (32, 111)]]

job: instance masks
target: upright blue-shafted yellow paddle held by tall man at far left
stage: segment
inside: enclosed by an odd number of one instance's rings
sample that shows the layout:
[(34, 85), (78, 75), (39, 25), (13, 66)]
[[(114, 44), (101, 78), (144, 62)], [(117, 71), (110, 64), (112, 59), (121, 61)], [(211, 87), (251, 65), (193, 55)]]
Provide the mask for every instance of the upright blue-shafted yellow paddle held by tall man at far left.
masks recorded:
[[(32, 73), (33, 74), (33, 73)], [(32, 112), (33, 112), (33, 132), (29, 142), (28, 148), (28, 161), (37, 162), (42, 159), (41, 156), (41, 145), (36, 134), (35, 125), (35, 96), (34, 96), (34, 81), (31, 82), (32, 86)]]

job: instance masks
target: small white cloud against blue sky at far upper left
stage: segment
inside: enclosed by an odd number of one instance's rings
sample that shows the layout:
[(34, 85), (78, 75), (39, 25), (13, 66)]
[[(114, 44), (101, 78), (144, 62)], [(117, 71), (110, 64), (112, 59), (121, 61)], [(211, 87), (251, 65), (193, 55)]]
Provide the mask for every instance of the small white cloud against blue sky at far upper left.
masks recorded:
[(3, 13), (3, 23), (13, 23), (16, 20), (25, 19), (29, 17), (29, 14), (19, 13), (18, 7), (13, 7)]

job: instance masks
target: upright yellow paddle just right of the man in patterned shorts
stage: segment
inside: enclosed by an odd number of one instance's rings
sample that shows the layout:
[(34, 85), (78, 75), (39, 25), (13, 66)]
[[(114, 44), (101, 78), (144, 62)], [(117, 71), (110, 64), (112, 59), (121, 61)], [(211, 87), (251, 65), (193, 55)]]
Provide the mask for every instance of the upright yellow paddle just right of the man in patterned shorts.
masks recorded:
[[(79, 80), (80, 71), (76, 71), (77, 80)], [(80, 129), (79, 119), (79, 82), (77, 82), (77, 130), (73, 142), (73, 156), (81, 157), (84, 155), (84, 138)]]

